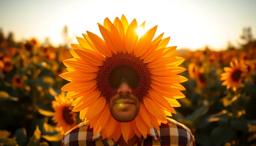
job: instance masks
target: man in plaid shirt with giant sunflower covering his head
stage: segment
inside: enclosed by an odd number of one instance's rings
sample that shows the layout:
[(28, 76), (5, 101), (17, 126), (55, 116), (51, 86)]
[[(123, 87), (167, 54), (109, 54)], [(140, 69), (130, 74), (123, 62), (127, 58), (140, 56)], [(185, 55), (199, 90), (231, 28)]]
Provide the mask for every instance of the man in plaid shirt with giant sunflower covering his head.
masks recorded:
[[(87, 31), (70, 49), (74, 58), (64, 60), (71, 81), (61, 89), (80, 112), (80, 123), (68, 131), (62, 146), (194, 146), (191, 131), (167, 116), (176, 114), (176, 100), (185, 97), (177, 75), (184, 58), (171, 56), (163, 33), (153, 40), (157, 26), (140, 38), (137, 21), (130, 25), (122, 15), (112, 23), (98, 24), (104, 40)], [(144, 28), (143, 22), (139, 28)]]

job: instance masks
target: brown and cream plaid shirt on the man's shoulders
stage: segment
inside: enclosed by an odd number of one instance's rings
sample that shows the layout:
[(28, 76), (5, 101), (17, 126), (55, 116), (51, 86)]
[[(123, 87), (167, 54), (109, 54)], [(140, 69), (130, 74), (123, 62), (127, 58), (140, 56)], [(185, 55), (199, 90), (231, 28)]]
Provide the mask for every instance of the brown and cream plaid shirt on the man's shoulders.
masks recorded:
[[(160, 131), (150, 130), (134, 146), (195, 146), (194, 136), (183, 124), (167, 118), (168, 123), (161, 123)], [(113, 140), (102, 140), (101, 133), (93, 136), (93, 128), (83, 122), (65, 133), (61, 146), (119, 146)]]

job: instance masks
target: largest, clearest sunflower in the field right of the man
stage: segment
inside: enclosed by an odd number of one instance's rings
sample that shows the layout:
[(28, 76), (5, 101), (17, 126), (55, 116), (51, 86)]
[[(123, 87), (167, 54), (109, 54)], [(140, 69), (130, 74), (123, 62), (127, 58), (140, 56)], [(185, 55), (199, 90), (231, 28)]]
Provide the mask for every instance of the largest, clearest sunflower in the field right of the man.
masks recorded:
[(237, 59), (235, 59), (234, 62), (230, 62), (230, 67), (224, 67), (223, 70), (225, 72), (221, 74), (220, 80), (224, 82), (221, 85), (227, 86), (227, 89), (231, 88), (233, 91), (243, 87), (242, 80), (246, 72), (244, 63), (238, 62)]

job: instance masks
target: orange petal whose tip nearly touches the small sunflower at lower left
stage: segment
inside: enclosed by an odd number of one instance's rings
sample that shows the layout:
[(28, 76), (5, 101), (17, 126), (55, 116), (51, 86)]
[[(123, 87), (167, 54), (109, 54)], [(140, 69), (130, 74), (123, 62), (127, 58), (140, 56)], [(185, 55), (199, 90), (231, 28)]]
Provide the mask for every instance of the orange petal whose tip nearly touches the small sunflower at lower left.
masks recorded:
[[(93, 91), (87, 94), (86, 97), (82, 97), (80, 101), (77, 103), (77, 105), (74, 106), (72, 111), (78, 112), (89, 107), (93, 102), (95, 102), (98, 99), (98, 97), (100, 96), (100, 93), (101, 93), (100, 91)], [(104, 98), (104, 97), (101, 97), (101, 98)]]

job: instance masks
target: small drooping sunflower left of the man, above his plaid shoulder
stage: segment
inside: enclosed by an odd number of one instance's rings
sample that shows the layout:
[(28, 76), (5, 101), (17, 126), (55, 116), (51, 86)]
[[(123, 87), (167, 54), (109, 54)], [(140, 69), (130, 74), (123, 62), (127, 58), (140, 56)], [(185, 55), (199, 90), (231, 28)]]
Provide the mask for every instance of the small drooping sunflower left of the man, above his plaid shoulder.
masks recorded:
[(63, 133), (76, 126), (76, 114), (71, 111), (72, 101), (65, 98), (63, 93), (55, 96), (55, 101), (51, 101), (52, 108), (55, 111), (52, 120), (57, 123), (58, 127), (62, 127)]

